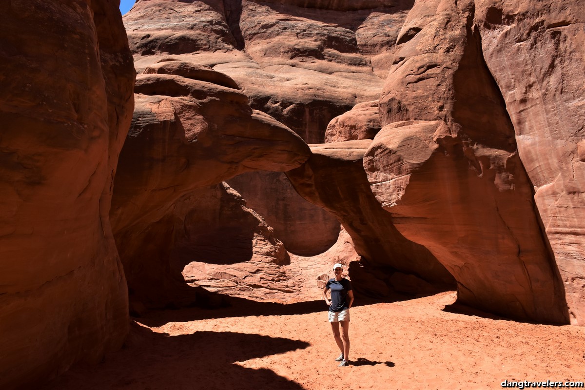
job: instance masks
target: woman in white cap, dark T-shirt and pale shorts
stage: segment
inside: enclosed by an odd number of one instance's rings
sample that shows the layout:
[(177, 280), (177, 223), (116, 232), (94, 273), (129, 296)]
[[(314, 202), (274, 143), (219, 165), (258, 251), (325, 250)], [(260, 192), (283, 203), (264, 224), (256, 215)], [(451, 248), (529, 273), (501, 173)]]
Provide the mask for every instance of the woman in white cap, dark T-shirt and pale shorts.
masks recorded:
[[(352, 284), (343, 278), (343, 265), (333, 265), (335, 278), (329, 279), (323, 289), (323, 298), (329, 306), (329, 323), (333, 330), (335, 343), (341, 354), (335, 361), (340, 361), (340, 367), (349, 365), (349, 308), (353, 304)], [(331, 301), (327, 299), (327, 290), (331, 289)], [(341, 323), (341, 334), (339, 334), (339, 323)]]

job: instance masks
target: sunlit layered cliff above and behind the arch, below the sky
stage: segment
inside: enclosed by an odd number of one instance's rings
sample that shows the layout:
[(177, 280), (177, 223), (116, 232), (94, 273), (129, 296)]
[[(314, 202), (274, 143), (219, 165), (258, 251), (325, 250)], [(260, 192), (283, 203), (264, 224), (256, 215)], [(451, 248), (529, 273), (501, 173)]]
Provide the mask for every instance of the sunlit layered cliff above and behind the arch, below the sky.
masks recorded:
[(309, 143), (378, 98), (413, 1), (138, 1), (125, 15), (139, 73), (161, 56), (232, 77), (252, 107)]

